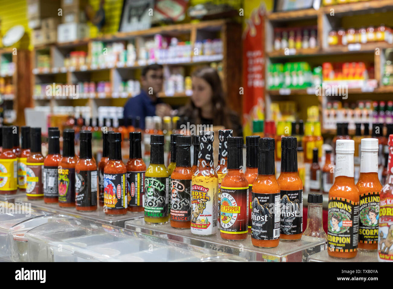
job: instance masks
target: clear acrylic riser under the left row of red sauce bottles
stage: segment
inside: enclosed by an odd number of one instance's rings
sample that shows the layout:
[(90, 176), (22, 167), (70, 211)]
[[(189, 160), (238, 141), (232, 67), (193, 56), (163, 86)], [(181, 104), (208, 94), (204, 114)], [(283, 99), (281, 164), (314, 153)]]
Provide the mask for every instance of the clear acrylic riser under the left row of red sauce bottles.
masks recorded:
[(76, 218), (88, 219), (90, 221), (96, 221), (112, 226), (118, 226), (124, 228), (124, 222), (143, 217), (143, 212), (127, 212), (125, 215), (110, 216), (105, 214), (103, 207), (97, 206), (97, 210), (93, 212), (81, 212), (77, 211), (75, 207), (61, 208), (59, 204), (45, 204), (44, 200), (28, 200), (27, 197), (20, 197), (15, 200), (19, 203), (31, 203), (31, 208), (44, 210), (56, 214), (69, 215)]

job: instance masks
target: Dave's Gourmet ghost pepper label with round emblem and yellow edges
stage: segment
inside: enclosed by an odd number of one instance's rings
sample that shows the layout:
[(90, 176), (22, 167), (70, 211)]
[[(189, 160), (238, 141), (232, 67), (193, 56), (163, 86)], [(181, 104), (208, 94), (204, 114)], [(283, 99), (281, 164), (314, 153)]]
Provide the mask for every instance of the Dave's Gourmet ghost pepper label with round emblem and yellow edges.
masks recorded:
[(220, 231), (248, 233), (248, 187), (221, 187)]

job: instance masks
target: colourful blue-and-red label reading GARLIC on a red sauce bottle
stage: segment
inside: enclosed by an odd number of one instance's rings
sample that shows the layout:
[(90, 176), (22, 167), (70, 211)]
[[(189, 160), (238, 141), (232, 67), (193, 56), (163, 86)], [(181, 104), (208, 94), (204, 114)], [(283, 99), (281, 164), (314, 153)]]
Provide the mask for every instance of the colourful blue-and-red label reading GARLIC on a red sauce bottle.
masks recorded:
[(127, 208), (125, 174), (104, 173), (104, 205), (110, 209)]

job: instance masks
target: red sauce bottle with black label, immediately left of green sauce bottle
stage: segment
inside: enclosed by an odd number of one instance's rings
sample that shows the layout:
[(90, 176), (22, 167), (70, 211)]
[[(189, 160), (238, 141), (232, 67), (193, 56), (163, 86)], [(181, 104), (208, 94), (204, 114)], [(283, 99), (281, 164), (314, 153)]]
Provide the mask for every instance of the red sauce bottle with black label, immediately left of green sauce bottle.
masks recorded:
[(126, 165), (128, 210), (131, 212), (143, 212), (146, 165), (142, 159), (142, 134), (140, 132), (132, 132), (129, 134), (129, 140), (130, 159)]

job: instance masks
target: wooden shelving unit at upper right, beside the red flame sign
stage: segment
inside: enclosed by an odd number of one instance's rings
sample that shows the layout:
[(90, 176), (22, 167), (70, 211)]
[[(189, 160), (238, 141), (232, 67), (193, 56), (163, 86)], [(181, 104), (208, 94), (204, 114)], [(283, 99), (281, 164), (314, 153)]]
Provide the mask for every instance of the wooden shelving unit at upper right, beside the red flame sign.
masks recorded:
[[(374, 15), (375, 13), (375, 15)], [(365, 17), (357, 17), (366, 15)], [(339, 4), (334, 6), (325, 6), (316, 9), (303, 9), (296, 11), (284, 11), (270, 13), (265, 18), (265, 50), (266, 50), (266, 74), (268, 75), (268, 66), (272, 63), (286, 63), (306, 61), (311, 66), (319, 66), (323, 62), (356, 62), (367, 61), (374, 64), (377, 87), (350, 88), (347, 95), (350, 95), (352, 101), (365, 99), (389, 100), (393, 93), (393, 86), (382, 85), (382, 76), (384, 73), (384, 63), (386, 60), (385, 52), (392, 48), (392, 44), (384, 41), (367, 42), (362, 44), (348, 44), (340, 46), (329, 46), (328, 36), (333, 28), (352, 25), (376, 26), (385, 19), (391, 19), (393, 16), (393, 3), (389, 0), (371, 0), (366, 2)], [(356, 19), (354, 19), (356, 18)], [(358, 19), (358, 20), (357, 20)], [(274, 50), (274, 28), (290, 26), (317, 26), (317, 42), (315, 48), (307, 49), (288, 49)], [(389, 24), (387, 24), (389, 22)], [(393, 27), (391, 21), (387, 21), (387, 26)], [(351, 24), (349, 24), (351, 23)], [(295, 101), (298, 105), (299, 117), (307, 118), (307, 107), (318, 105), (320, 110), (320, 121), (322, 121), (322, 111), (326, 108), (328, 100), (341, 100), (341, 96), (317, 96), (316, 89), (310, 87), (307, 89), (277, 89), (268, 90), (266, 86), (266, 119), (271, 118), (270, 104), (273, 101)], [(334, 134), (335, 131), (322, 128), (323, 134)]]

